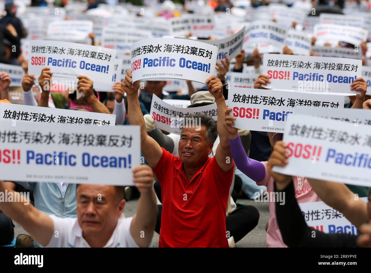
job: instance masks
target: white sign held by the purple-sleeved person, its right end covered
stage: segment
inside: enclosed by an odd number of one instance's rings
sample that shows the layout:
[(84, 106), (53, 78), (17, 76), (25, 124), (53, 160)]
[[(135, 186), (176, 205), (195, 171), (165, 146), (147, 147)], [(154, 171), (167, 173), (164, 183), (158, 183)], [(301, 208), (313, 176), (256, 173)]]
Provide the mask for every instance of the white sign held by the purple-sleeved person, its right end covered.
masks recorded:
[(230, 115), (236, 117), (234, 127), (277, 133), (285, 132), (288, 114), (295, 114), (298, 108), (344, 107), (343, 96), (239, 87), (229, 89), (228, 101)]

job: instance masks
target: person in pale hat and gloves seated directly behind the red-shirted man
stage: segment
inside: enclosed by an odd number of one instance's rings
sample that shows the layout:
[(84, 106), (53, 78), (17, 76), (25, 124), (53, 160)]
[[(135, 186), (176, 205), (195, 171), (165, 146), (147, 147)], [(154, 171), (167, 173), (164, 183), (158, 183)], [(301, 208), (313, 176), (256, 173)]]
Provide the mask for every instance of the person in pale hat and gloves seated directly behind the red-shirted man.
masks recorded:
[[(209, 91), (197, 91), (191, 96), (191, 104), (188, 107), (200, 107), (203, 105), (210, 105), (213, 103), (215, 103), (215, 99), (213, 95), (210, 94)], [(178, 143), (180, 141), (180, 135), (173, 133), (166, 135), (162, 133), (160, 129), (156, 128), (154, 120), (150, 115), (145, 115), (144, 121), (148, 136), (152, 137), (161, 147), (170, 152), (172, 155), (179, 156)], [(248, 130), (240, 130), (240, 133), (243, 134), (242, 137), (243, 147), (245, 151), (248, 152), (251, 140), (250, 132)], [(218, 136), (214, 142), (212, 152), (209, 155), (210, 158), (214, 157), (219, 142), (220, 139)], [(227, 231), (230, 231), (229, 234), (230, 237), (228, 240), (230, 246), (233, 246), (234, 243), (237, 243), (247, 233), (253, 230), (259, 221), (259, 212), (255, 207), (245, 205), (243, 207), (237, 208), (235, 204), (237, 200), (236, 199), (234, 200), (234, 198), (238, 196), (239, 191), (236, 192), (234, 190), (234, 179), (235, 176), (233, 176), (233, 181), (229, 193), (228, 208), (226, 215), (226, 229)], [(158, 181), (155, 182), (155, 192), (157, 194), (158, 199), (161, 201), (161, 185)], [(231, 195), (234, 198), (231, 198)], [(159, 214), (157, 218), (155, 231), (158, 234), (160, 234), (162, 205), (158, 206)]]

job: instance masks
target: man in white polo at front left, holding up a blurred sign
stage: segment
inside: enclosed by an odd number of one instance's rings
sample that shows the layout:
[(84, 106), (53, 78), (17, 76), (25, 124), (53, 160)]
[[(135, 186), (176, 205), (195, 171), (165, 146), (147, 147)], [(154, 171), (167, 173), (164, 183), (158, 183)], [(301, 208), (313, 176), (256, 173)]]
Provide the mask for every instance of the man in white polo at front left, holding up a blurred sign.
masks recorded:
[[(77, 185), (77, 219), (47, 215), (23, 202), (1, 202), (0, 209), (44, 247), (149, 247), (157, 214), (153, 173), (141, 165), (133, 174), (141, 192), (134, 217), (123, 214), (124, 187), (109, 185)], [(0, 192), (6, 189), (12, 191), (0, 181)]]

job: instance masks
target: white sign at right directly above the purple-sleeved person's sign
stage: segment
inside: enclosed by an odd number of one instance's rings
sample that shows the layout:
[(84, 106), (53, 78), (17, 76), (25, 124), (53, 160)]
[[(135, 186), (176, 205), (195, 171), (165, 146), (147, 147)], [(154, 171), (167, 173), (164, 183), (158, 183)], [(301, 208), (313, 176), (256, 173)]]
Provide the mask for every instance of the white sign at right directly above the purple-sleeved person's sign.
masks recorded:
[(266, 88), (293, 91), (321, 91), (359, 94), (350, 84), (362, 75), (362, 61), (345, 58), (264, 54), (263, 74), (270, 79)]

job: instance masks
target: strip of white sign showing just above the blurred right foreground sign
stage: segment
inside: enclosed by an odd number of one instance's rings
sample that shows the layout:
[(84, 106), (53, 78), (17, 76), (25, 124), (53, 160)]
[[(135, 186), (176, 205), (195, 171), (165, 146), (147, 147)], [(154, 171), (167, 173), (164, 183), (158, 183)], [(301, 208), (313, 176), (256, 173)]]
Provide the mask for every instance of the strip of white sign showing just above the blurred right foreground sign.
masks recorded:
[[(371, 125), (371, 117), (365, 115), (365, 110), (354, 108), (337, 108), (329, 111), (327, 108), (298, 108), (295, 114), (303, 114), (312, 117), (328, 118), (331, 120), (341, 120), (351, 123), (354, 126), (358, 124)], [(290, 117), (288, 117), (289, 119)]]

